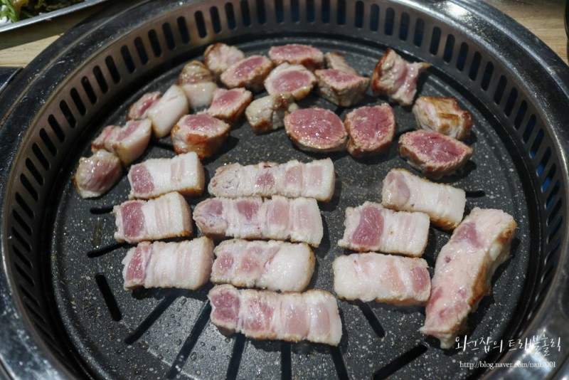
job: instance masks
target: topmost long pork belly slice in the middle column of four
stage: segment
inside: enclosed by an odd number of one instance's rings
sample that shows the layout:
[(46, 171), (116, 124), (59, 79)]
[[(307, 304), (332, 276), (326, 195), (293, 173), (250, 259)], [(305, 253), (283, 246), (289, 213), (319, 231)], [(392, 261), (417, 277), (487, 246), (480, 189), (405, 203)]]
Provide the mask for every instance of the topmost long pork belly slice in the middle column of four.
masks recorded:
[(285, 164), (261, 162), (246, 167), (229, 164), (219, 167), (209, 185), (209, 194), (226, 198), (274, 195), (297, 198), (305, 196), (317, 201), (330, 201), (334, 194), (334, 164), (321, 159), (307, 164), (297, 160)]

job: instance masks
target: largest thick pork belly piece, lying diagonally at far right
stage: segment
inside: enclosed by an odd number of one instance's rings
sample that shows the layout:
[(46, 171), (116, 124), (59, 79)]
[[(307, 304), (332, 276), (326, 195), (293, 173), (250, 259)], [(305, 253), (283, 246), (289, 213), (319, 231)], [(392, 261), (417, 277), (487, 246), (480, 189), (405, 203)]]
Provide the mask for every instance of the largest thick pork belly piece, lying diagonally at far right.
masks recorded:
[(469, 313), (490, 294), (496, 268), (509, 258), (516, 227), (504, 211), (474, 208), (440, 250), (420, 332), (440, 339), (441, 348), (452, 347)]

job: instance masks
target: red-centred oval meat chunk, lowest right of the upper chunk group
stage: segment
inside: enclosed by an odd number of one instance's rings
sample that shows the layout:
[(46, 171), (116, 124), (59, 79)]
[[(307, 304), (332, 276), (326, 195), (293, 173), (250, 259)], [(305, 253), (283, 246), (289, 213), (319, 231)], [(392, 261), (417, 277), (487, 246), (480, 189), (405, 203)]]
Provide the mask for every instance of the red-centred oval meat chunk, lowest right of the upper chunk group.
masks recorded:
[(432, 179), (453, 174), (472, 156), (472, 148), (439, 132), (418, 130), (399, 137), (399, 155)]

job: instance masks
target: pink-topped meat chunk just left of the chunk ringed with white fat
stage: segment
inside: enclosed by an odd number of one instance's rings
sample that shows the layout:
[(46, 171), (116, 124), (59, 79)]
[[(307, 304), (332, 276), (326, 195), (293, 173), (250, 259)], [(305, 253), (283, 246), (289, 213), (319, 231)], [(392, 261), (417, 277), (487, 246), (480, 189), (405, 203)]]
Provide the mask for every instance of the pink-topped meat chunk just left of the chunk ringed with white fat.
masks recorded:
[(230, 65), (220, 76), (228, 88), (244, 87), (253, 93), (264, 89), (263, 81), (272, 70), (272, 62), (265, 56), (250, 56)]

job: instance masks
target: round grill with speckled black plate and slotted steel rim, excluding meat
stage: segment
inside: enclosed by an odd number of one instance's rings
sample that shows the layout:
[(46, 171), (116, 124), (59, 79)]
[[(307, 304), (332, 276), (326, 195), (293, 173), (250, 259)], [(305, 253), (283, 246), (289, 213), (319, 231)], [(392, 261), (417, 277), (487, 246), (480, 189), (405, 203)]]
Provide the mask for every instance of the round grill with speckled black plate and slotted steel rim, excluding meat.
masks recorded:
[[(159, 6), (158, 6), (159, 5)], [(484, 15), (484, 17), (479, 16)], [(418, 328), (420, 307), (339, 301), (339, 347), (255, 342), (221, 335), (209, 322), (206, 285), (185, 290), (122, 290), (129, 246), (113, 238), (110, 209), (127, 199), (125, 178), (100, 199), (73, 189), (79, 157), (105, 125), (124, 124), (127, 106), (148, 90), (165, 90), (188, 60), (210, 43), (247, 54), (310, 43), (344, 53), (371, 74), (388, 47), (432, 64), (423, 95), (457, 97), (472, 112), (474, 156), (447, 181), (467, 190), (467, 212), (499, 208), (519, 223), (512, 257), (494, 276), (494, 291), (469, 317), (466, 349), (441, 350)], [(506, 48), (507, 47), (507, 48)], [(548, 377), (555, 368), (477, 368), (554, 361), (569, 352), (568, 137), (569, 70), (530, 33), (488, 6), (462, 1), (227, 0), (124, 1), (74, 28), (23, 70), (0, 95), (1, 363), (9, 375), (128, 379), (353, 378), (464, 379)], [(385, 99), (368, 97), (370, 105)], [(342, 108), (316, 96), (343, 117)], [(410, 110), (395, 107), (397, 133), (412, 130)], [(172, 157), (168, 139), (142, 157)], [(208, 178), (220, 165), (325, 157), (292, 147), (285, 132), (234, 128)], [(325, 237), (315, 250), (312, 288), (332, 290), (331, 262), (344, 210), (379, 201), (381, 179), (407, 167), (395, 146), (375, 159), (331, 154), (336, 193), (320, 204)], [(208, 196), (207, 194), (204, 196)], [(201, 199), (188, 199), (194, 206)], [(431, 267), (449, 234), (432, 229)], [(560, 339), (548, 355), (507, 349), (533, 337)], [(462, 336), (461, 339), (465, 337)], [(472, 342), (490, 339), (504, 349)], [(514, 346), (517, 347), (517, 346)], [(484, 349), (486, 348), (486, 350)], [(510, 347), (511, 348), (511, 347)], [(488, 352), (486, 352), (488, 351)]]

